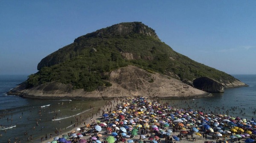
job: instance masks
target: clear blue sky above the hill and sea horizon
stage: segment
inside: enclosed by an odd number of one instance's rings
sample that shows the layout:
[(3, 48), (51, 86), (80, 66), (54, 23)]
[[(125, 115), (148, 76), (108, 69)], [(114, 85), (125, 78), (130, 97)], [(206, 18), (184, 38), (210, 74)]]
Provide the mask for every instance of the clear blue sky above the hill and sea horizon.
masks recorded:
[(36, 73), (75, 38), (134, 21), (197, 62), (256, 74), (255, 0), (0, 0), (0, 74)]

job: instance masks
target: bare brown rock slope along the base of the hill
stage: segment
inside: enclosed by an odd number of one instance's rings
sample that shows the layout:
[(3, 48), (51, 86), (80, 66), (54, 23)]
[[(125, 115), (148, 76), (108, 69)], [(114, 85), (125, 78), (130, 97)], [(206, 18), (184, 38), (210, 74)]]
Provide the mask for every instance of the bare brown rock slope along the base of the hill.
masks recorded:
[(135, 66), (121, 67), (110, 73), (111, 87), (98, 87), (92, 92), (73, 90), (71, 84), (50, 82), (26, 89), (24, 84), (8, 94), (42, 99), (111, 99), (144, 96), (150, 98), (200, 98), (209, 96), (180, 80), (159, 73), (149, 73)]

